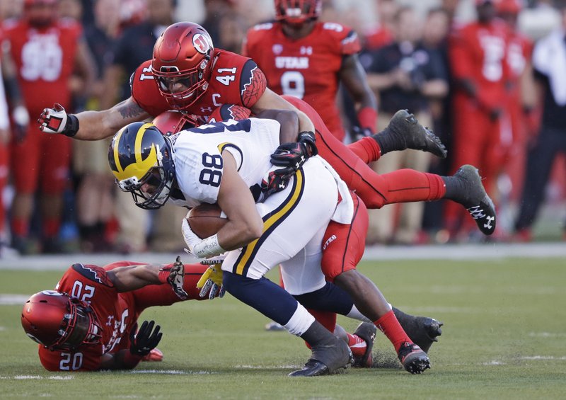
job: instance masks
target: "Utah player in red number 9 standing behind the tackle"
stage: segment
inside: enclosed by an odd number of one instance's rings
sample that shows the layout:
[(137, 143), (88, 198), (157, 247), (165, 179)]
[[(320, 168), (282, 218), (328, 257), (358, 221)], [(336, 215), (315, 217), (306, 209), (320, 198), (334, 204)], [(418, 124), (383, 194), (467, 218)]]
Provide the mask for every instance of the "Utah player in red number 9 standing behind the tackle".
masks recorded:
[(321, 6), (321, 0), (275, 0), (276, 21), (250, 28), (242, 54), (258, 63), (272, 91), (306, 101), (340, 141), (342, 82), (358, 105), (360, 127), (375, 132), (377, 103), (357, 57), (359, 38), (345, 25), (318, 21)]

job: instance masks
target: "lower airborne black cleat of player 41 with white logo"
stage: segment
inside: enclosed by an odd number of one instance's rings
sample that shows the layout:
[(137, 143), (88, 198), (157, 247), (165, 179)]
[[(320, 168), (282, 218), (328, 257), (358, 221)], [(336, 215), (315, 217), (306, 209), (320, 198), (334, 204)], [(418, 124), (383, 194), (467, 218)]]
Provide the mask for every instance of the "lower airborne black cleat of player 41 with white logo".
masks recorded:
[(480, 232), (485, 235), (495, 232), (495, 205), (485, 192), (478, 168), (466, 164), (458, 168), (454, 176), (465, 181), (467, 193), (463, 205), (478, 224)]

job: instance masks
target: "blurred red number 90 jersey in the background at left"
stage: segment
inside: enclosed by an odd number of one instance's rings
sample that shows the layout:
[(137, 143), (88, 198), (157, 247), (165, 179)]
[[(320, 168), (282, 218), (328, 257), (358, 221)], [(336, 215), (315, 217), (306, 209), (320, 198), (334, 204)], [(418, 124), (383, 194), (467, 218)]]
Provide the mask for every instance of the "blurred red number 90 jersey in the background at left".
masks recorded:
[(68, 79), (73, 73), (81, 25), (61, 19), (39, 29), (21, 20), (10, 21), (4, 28), (30, 115), (39, 115), (45, 104), (61, 103), (69, 107)]

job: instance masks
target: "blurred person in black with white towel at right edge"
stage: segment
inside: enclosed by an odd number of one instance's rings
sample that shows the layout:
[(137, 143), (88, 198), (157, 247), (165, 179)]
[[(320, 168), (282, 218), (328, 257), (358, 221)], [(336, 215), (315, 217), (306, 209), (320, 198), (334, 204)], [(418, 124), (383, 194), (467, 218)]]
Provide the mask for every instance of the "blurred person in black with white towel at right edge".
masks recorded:
[(544, 200), (550, 170), (556, 156), (566, 152), (566, 1), (557, 4), (561, 27), (539, 40), (533, 50), (543, 116), (540, 133), (531, 139), (521, 208), (515, 222), (516, 239), (521, 241), (531, 240), (531, 227)]

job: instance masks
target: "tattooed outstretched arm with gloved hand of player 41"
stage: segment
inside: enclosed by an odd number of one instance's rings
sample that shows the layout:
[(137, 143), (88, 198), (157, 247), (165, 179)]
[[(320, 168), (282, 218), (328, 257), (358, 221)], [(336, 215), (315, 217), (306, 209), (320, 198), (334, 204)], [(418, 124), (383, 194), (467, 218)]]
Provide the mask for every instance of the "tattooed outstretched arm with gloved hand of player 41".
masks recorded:
[(79, 140), (100, 140), (111, 137), (131, 122), (149, 118), (132, 97), (108, 110), (68, 114), (59, 104), (44, 108), (37, 122), (45, 133), (61, 134)]

